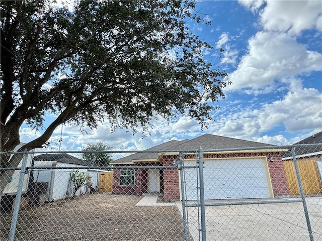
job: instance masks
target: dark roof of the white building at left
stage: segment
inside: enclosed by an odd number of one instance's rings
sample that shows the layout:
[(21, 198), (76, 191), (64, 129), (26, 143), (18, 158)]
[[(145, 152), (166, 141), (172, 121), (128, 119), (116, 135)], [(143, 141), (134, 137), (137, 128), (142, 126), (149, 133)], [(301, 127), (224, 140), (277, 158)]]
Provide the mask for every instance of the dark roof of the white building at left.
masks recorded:
[(61, 163), (82, 165), (82, 166), (91, 166), (90, 163), (79, 159), (77, 157), (71, 156), (67, 153), (53, 153), (53, 154), (41, 154), (34, 157), (34, 161), (55, 161)]

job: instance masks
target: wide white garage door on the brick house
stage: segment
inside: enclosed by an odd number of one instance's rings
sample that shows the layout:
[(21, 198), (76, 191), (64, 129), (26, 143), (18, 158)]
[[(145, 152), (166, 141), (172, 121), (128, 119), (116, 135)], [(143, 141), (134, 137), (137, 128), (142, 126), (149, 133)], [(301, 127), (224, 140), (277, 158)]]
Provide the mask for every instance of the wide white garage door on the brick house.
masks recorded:
[[(269, 198), (264, 158), (204, 160), (205, 199)], [(185, 161), (185, 166), (196, 165)], [(188, 200), (197, 199), (199, 169), (185, 169)], [(199, 173), (198, 173), (199, 174)]]

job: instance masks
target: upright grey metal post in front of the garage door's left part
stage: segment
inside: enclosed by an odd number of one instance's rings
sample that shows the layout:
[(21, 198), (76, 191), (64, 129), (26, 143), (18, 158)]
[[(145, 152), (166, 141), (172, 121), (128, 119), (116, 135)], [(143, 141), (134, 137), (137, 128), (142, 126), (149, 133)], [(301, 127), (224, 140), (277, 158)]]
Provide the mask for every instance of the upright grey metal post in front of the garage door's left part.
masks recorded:
[(199, 189), (200, 189), (200, 215), (201, 215), (201, 240), (206, 241), (206, 217), (205, 217), (205, 192), (203, 182), (203, 158), (202, 148), (199, 148)]

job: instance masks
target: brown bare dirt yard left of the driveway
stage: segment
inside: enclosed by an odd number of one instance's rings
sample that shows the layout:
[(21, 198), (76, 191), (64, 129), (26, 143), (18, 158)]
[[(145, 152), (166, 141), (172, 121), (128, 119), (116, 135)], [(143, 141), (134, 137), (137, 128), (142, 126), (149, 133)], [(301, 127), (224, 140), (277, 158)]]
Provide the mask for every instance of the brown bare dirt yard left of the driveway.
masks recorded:
[[(15, 240), (182, 240), (176, 206), (135, 206), (139, 196), (95, 193), (19, 212)], [(12, 213), (1, 213), (8, 239)]]

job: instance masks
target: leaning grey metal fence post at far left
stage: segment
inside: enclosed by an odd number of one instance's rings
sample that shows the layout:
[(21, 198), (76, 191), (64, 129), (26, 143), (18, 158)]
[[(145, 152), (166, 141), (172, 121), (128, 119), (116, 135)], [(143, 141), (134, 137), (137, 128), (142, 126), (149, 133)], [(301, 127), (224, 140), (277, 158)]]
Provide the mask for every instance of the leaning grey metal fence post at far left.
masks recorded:
[(12, 221), (11, 221), (10, 233), (9, 233), (9, 238), (8, 238), (9, 241), (13, 241), (15, 238), (16, 225), (17, 225), (17, 220), (18, 220), (18, 212), (19, 212), (19, 207), (20, 207), (22, 186), (24, 183), (24, 176), (25, 176), (25, 172), (26, 172), (27, 159), (28, 159), (28, 154), (25, 153), (23, 156), (23, 159), (22, 159), (22, 164), (21, 164), (15, 206), (14, 206), (14, 211), (12, 214)]

